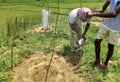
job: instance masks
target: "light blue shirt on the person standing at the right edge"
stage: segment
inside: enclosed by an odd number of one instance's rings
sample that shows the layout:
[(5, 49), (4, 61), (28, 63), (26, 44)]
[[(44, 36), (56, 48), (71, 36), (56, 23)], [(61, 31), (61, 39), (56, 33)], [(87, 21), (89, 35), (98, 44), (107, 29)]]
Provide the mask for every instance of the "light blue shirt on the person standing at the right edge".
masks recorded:
[[(117, 5), (120, 4), (120, 0), (108, 0), (110, 1), (109, 12), (114, 12)], [(120, 32), (120, 14), (115, 18), (105, 18), (103, 26), (113, 32)]]

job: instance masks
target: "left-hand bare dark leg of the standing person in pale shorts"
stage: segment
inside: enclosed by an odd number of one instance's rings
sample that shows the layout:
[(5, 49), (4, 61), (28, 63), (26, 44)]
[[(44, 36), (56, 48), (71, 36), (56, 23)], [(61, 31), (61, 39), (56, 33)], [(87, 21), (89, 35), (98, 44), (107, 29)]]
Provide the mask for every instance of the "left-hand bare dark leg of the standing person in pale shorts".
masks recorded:
[(96, 39), (94, 41), (94, 45), (95, 45), (95, 55), (96, 55), (96, 59), (94, 62), (94, 65), (99, 65), (100, 64), (100, 44), (101, 44), (102, 39)]

